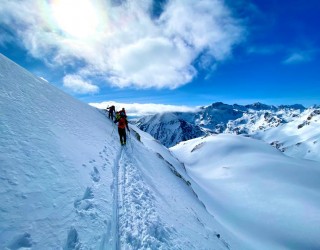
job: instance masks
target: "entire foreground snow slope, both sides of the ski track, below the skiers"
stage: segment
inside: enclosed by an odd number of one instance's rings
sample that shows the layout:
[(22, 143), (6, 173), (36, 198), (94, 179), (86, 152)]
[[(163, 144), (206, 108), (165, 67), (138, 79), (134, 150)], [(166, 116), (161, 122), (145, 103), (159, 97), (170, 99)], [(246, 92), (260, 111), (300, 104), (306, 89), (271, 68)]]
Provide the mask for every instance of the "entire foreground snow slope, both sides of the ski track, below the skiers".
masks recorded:
[[(0, 55), (0, 249), (248, 249), (170, 152)], [(135, 132), (136, 131), (136, 132)]]

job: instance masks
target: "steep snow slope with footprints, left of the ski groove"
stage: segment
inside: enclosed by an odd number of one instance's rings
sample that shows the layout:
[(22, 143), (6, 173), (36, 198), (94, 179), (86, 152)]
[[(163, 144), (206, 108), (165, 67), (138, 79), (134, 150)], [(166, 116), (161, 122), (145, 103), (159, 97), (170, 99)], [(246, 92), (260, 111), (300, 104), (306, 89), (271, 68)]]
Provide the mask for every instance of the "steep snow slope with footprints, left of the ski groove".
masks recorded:
[(0, 249), (113, 244), (119, 147), (104, 116), (2, 55), (0, 89)]

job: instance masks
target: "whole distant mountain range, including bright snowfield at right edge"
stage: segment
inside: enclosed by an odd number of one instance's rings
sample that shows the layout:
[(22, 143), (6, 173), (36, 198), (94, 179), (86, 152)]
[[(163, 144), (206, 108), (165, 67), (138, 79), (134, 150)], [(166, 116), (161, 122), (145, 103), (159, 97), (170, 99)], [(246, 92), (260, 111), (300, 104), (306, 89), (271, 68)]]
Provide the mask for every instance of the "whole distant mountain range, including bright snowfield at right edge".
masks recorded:
[[(320, 106), (305, 108), (300, 104), (273, 106), (257, 102), (229, 105), (216, 102), (194, 112), (145, 116), (136, 125), (167, 147), (208, 134), (228, 133), (265, 140), (290, 154), (293, 149), (289, 138), (292, 137), (295, 138), (294, 145), (298, 144), (302, 148), (301, 145), (310, 139), (310, 145), (315, 147), (318, 142), (315, 138), (320, 136), (319, 122)], [(303, 131), (305, 134), (301, 136)], [(312, 138), (309, 138), (311, 134)], [(306, 152), (311, 150), (307, 148)], [(303, 158), (308, 159), (306, 153)], [(315, 158), (318, 159), (315, 155), (311, 157)]]

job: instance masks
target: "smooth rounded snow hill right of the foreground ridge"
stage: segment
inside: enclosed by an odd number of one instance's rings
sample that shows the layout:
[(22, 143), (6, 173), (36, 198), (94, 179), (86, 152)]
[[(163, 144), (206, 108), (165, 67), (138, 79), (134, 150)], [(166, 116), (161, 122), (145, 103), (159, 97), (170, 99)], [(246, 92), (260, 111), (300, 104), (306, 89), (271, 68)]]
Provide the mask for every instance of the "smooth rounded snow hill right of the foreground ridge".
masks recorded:
[(253, 249), (320, 249), (320, 165), (265, 142), (212, 135), (171, 148), (208, 210)]

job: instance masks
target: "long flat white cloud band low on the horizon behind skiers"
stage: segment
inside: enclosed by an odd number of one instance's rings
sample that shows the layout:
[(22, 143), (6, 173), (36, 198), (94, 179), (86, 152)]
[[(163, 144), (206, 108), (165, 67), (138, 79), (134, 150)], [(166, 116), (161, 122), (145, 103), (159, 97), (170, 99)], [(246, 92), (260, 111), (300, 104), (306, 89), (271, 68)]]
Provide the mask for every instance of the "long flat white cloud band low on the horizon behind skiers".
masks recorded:
[(90, 103), (91, 106), (106, 109), (107, 107), (114, 105), (116, 110), (125, 108), (127, 115), (130, 116), (144, 116), (152, 115), (156, 113), (165, 113), (165, 112), (193, 112), (198, 109), (198, 107), (189, 107), (189, 106), (176, 106), (176, 105), (166, 105), (166, 104), (155, 104), (155, 103), (119, 103), (119, 102), (101, 102), (101, 103)]

